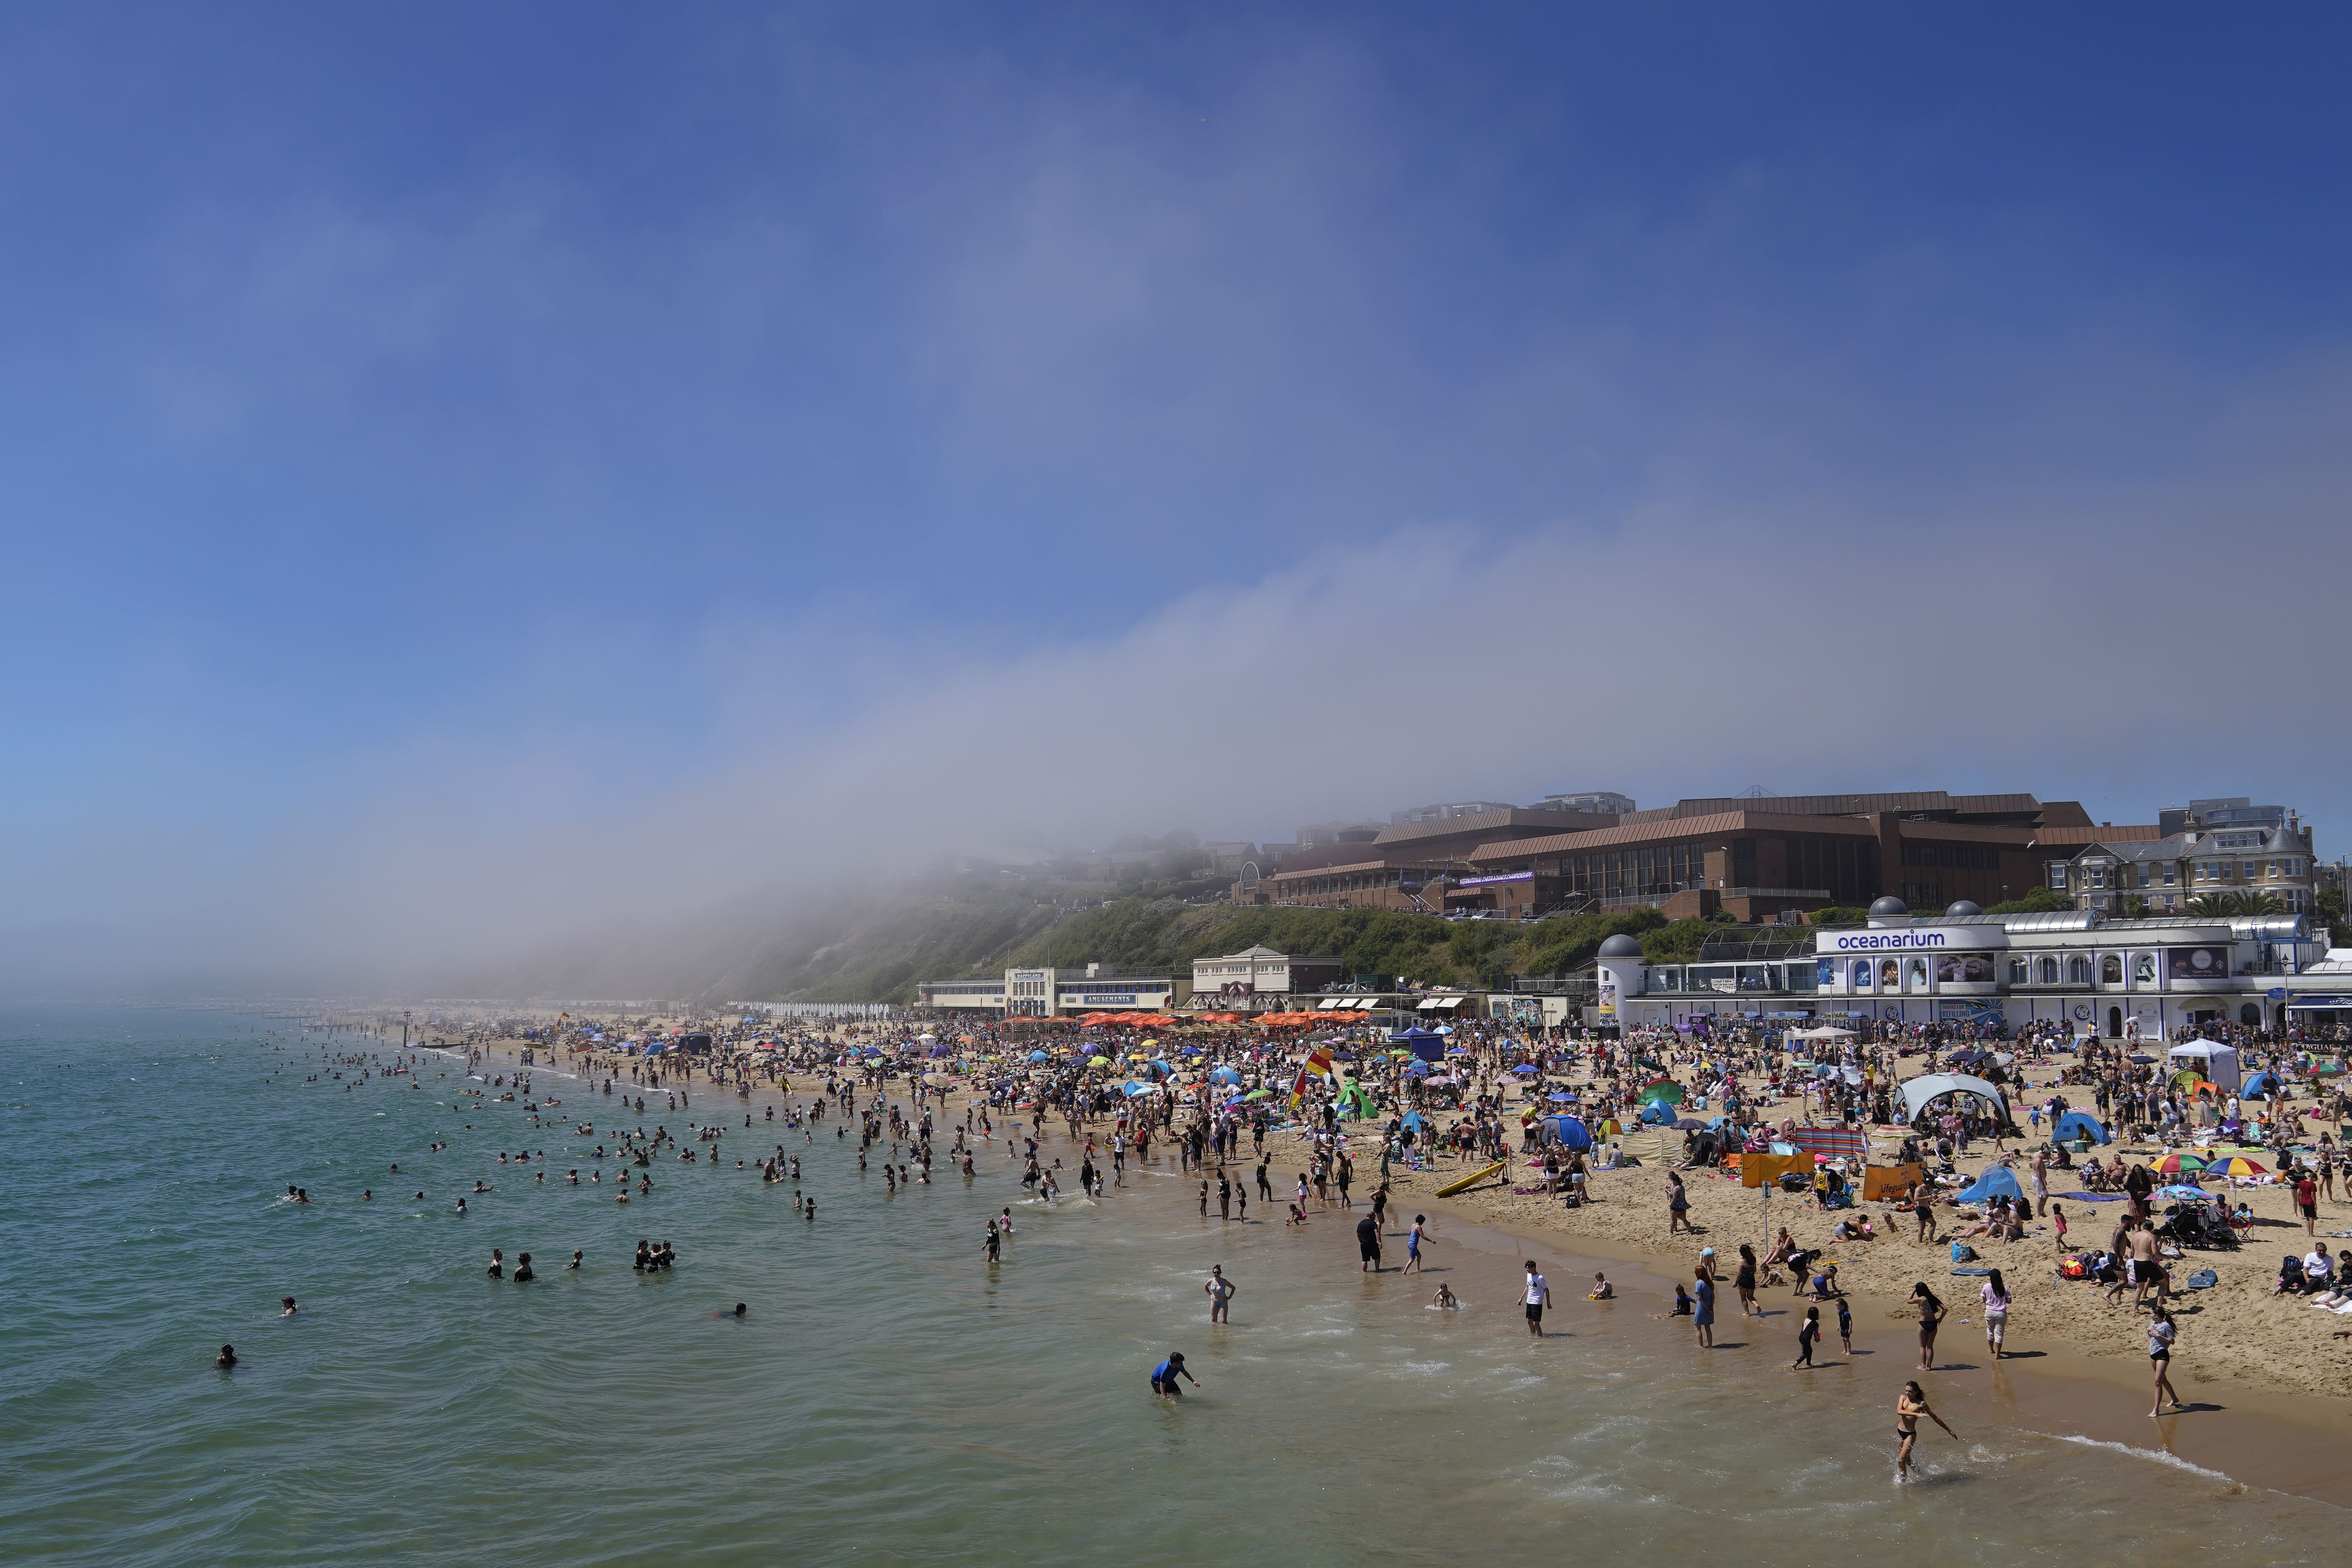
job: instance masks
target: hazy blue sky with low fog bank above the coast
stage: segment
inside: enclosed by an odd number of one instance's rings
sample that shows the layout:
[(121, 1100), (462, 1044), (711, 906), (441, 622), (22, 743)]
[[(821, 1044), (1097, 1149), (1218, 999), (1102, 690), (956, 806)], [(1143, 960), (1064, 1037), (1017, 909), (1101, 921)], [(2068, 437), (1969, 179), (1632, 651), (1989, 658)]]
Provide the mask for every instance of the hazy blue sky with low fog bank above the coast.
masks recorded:
[(2340, 12), (1162, 12), (0, 24), (5, 924), (1552, 788), (2345, 820)]

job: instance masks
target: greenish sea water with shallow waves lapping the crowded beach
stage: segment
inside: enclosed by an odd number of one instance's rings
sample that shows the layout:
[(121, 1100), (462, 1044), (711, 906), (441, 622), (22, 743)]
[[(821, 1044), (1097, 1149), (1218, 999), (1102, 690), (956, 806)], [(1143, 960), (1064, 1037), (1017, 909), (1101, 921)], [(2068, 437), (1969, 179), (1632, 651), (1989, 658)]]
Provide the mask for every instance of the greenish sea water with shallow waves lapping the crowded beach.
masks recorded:
[[(322, 1044), (230, 1013), (0, 1013), (0, 1561), (2340, 1561), (2326, 1505), (1980, 1420), (1929, 1427), (1896, 1486), (1903, 1371), (1832, 1333), (1832, 1366), (1788, 1373), (1790, 1316), (1733, 1314), (1719, 1335), (1755, 1342), (1703, 1354), (1656, 1298), (1590, 1307), (1555, 1272), (1564, 1333), (1531, 1340), (1496, 1246), (1367, 1279), (1355, 1215), (1202, 1218), (1164, 1166), (1047, 1208), (1000, 1133), (969, 1187), (943, 1161), (891, 1197), (835, 1121), (814, 1145), (743, 1128), (701, 1088), (621, 1114), (541, 1070), (562, 1105), (529, 1128), (449, 1056), (360, 1079)], [(701, 1152), (713, 1121), (720, 1159), (666, 1150), (649, 1197), (614, 1204), (612, 1159), (586, 1182), (614, 1126)], [(757, 1178), (776, 1143), (814, 1220)], [(520, 1150), (546, 1164), (496, 1161)], [(677, 1267), (635, 1274), (640, 1237)], [(539, 1279), (487, 1279), (494, 1246)], [(1223, 1328), (1211, 1262), (1240, 1284)], [(1428, 1307), (1439, 1281), (1463, 1309)], [(1202, 1380), (1181, 1403), (1145, 1389), (1169, 1349)]]

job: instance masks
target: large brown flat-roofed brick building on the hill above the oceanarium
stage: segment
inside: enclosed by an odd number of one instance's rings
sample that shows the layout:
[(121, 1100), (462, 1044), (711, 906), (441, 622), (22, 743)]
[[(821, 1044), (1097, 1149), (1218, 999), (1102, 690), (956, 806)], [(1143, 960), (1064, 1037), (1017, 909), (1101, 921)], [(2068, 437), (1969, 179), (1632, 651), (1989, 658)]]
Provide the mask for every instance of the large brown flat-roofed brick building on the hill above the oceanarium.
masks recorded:
[(1686, 799), (1606, 827), (1496, 839), (1470, 860), (1472, 875), (1550, 877), (1566, 903), (1778, 919), (1886, 893), (2006, 903), (2042, 884), (2049, 825), (2089, 818), (2074, 802), (1943, 790)]

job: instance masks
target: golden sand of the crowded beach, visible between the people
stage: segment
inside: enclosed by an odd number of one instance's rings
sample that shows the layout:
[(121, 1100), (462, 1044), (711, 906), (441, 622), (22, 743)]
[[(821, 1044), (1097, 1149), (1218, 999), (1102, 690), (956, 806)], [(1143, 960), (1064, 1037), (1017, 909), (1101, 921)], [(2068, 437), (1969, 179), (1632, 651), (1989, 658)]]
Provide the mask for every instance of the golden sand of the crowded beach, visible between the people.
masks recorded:
[[(456, 1046), (456, 1041), (449, 1041)], [(522, 1046), (510, 1039), (477, 1041), (489, 1051), (492, 1070), (520, 1065)], [(1903, 1067), (1917, 1070), (1915, 1063)], [(564, 1072), (557, 1067), (555, 1072)], [(1905, 1074), (1907, 1074), (1905, 1072)], [(708, 1091), (701, 1072), (687, 1077), (694, 1095), (682, 1117), (691, 1119), (741, 1119), (753, 1117), (760, 1126), (769, 1105), (807, 1098), (814, 1084), (807, 1074), (790, 1074), (790, 1091), (764, 1084), (753, 1086), (750, 1100), (741, 1100), (729, 1084)], [(706, 1100), (703, 1093), (710, 1093)], [(889, 1086), (889, 1098), (906, 1093), (906, 1079)], [(720, 1098), (724, 1095), (724, 1098)], [(971, 1095), (953, 1088), (946, 1095), (946, 1117), (962, 1119)], [(936, 1103), (936, 1100), (934, 1100)], [(1773, 1119), (1792, 1107), (1769, 1107)], [(1023, 1117), (1023, 1124), (1028, 1119)], [(1002, 1138), (1000, 1121), (1000, 1138)], [(1108, 1124), (1096, 1124), (1108, 1131)], [(1665, 1135), (1668, 1161), (1658, 1159), (1661, 1135), (1653, 1128), (1630, 1131), (1618, 1140), (1625, 1152), (1644, 1164), (1621, 1171), (1595, 1171), (1590, 1178), (1590, 1204), (1564, 1208), (1559, 1199), (1543, 1194), (1519, 1194), (1512, 1185), (1534, 1185), (1524, 1157), (1512, 1157), (1512, 1175), (1491, 1180), (1451, 1199), (1435, 1199), (1435, 1190), (1482, 1168), (1484, 1161), (1456, 1161), (1451, 1157), (1432, 1161), (1425, 1171), (1397, 1166), (1390, 1175), (1390, 1232), (1402, 1237), (1414, 1213), (1430, 1213), (1446, 1244), (1494, 1253), (1534, 1255), (1543, 1260), (1555, 1281), (1555, 1302), (1562, 1316), (1573, 1321), (1581, 1312), (1658, 1312), (1670, 1298), (1670, 1281), (1691, 1279), (1691, 1267), (1703, 1246), (1717, 1248), (1719, 1276), (1726, 1281), (1719, 1298), (1719, 1347), (1712, 1354), (1738, 1354), (1762, 1359), (1785, 1359), (1792, 1354), (1804, 1300), (1790, 1286), (1759, 1288), (1757, 1302), (1766, 1316), (1740, 1321), (1738, 1300), (1729, 1288), (1729, 1276), (1738, 1265), (1738, 1246), (1752, 1244), (1766, 1251), (1778, 1227), (1809, 1248), (1825, 1248), (1839, 1265), (1839, 1286), (1849, 1298), (1856, 1326), (1856, 1349), (1872, 1356), (1872, 1366), (1884, 1375), (1907, 1371), (1917, 1354), (1915, 1312), (1905, 1305), (1915, 1281), (1926, 1281), (1947, 1302), (1950, 1316), (1938, 1340), (1938, 1399), (1952, 1401), (1976, 1420), (1997, 1420), (2032, 1432), (2067, 1436), (2079, 1441), (2119, 1443), (2133, 1450), (2161, 1450), (2183, 1462), (2227, 1474), (2232, 1479), (2288, 1490), (2321, 1502), (2352, 1507), (2352, 1479), (2314, 1448), (2314, 1436), (2336, 1436), (2352, 1420), (2352, 1342), (2331, 1338), (2338, 1326), (2336, 1314), (2317, 1312), (2298, 1298), (2272, 1298), (2272, 1276), (2279, 1253), (2303, 1251), (2303, 1225), (2291, 1220), (2291, 1197), (2281, 1187), (2241, 1187), (2232, 1199), (2244, 1197), (2258, 1225), (2244, 1248), (2234, 1253), (2190, 1253), (2176, 1274), (2194, 1267), (2211, 1267), (2220, 1284), (2209, 1291), (2183, 1293), (2173, 1300), (2180, 1324), (2178, 1382), (2187, 1413), (2169, 1415), (2161, 1422), (2147, 1418), (2147, 1361), (2143, 1354), (2145, 1314), (2136, 1314), (2131, 1293), (2122, 1305), (2107, 1305), (2103, 1286), (2086, 1281), (2060, 1281), (2056, 1276), (2058, 1248), (2049, 1222), (2037, 1222), (2027, 1239), (2016, 1244), (1990, 1244), (1978, 1237), (1971, 1246), (1980, 1258), (1973, 1267), (1997, 1265), (2016, 1298), (2009, 1316), (2006, 1359), (1992, 1363), (1985, 1354), (1980, 1328), (1980, 1305), (1976, 1276), (1952, 1276), (1947, 1244), (1912, 1241), (1915, 1222), (1907, 1211), (1884, 1204), (1865, 1204), (1837, 1213), (1820, 1211), (1811, 1197), (1773, 1192), (1769, 1211), (1762, 1190), (1740, 1187), (1736, 1178), (1712, 1171), (1682, 1171), (1691, 1197), (1691, 1222), (1700, 1234), (1668, 1237), (1668, 1166), (1679, 1159), (1679, 1133)], [(1065, 1131), (1058, 1121), (1044, 1128), (1044, 1145), (1051, 1154), (1068, 1154)], [(988, 1159), (1002, 1161), (1002, 1145)], [(1294, 1180), (1287, 1168), (1303, 1164), (1294, 1159), (1305, 1143), (1284, 1128), (1270, 1133), (1265, 1152), (1272, 1164), (1277, 1194)], [(2126, 1157), (2152, 1157), (2152, 1145), (2117, 1143), (2098, 1150), (2103, 1157), (2124, 1152)], [(1994, 1159), (1990, 1145), (1978, 1143), (1959, 1164), (1964, 1171), (1980, 1171)], [(1075, 1164), (1075, 1159), (1070, 1161)], [(1232, 1161), (1228, 1168), (1237, 1180), (1251, 1171), (1251, 1157)], [(1152, 1166), (1174, 1166), (1171, 1154), (1155, 1147)], [(2070, 1190), (2072, 1173), (2053, 1173), (2051, 1192)], [(1357, 1206), (1376, 1185), (1371, 1159), (1359, 1154)], [(2218, 1182), (2216, 1182), (2218, 1187)], [(2105, 1241), (2122, 1204), (2086, 1204), (2058, 1199), (2070, 1215), (2070, 1248)], [(1837, 1244), (1830, 1237), (1839, 1218), (1870, 1213), (1879, 1229), (1877, 1241)], [(1317, 1227), (1338, 1229), (1336, 1204), (1315, 1213)], [(1945, 1234), (1952, 1215), (1938, 1211)], [(1263, 1213), (1261, 1220), (1279, 1215)], [(2352, 1227), (2352, 1204), (2321, 1201), (2319, 1229)], [(1402, 1241), (1392, 1241), (1402, 1258)], [(1618, 1286), (1618, 1302), (1585, 1302), (1583, 1291), (1595, 1269), (1606, 1269)], [(1825, 1309), (1825, 1321), (1835, 1314)], [(1661, 1324), (1661, 1328), (1668, 1328)], [(1686, 1319), (1672, 1331), (1689, 1333)], [(1830, 1335), (1835, 1345), (1835, 1328)], [(1693, 1354), (1708, 1354), (1696, 1352)]]

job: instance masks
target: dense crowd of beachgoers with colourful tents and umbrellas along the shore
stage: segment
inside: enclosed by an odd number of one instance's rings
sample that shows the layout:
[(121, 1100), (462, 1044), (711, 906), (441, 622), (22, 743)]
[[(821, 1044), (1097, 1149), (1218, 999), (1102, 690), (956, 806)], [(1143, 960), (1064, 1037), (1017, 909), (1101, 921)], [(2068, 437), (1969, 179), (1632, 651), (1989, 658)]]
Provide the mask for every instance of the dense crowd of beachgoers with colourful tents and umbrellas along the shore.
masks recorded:
[[(2147, 1316), (2152, 1413), (2180, 1408), (2169, 1380), (2178, 1342), (2171, 1314), (2178, 1286), (2169, 1265), (2178, 1260), (2178, 1248), (2171, 1246), (2169, 1220), (2152, 1211), (2157, 1175), (2145, 1161), (2126, 1164), (2122, 1157), (2107, 1166), (2060, 1138), (2067, 1112), (2079, 1103), (2133, 1135), (2218, 1128), (2253, 1135), (2253, 1147), (2284, 1154), (2281, 1175), (2307, 1229), (2317, 1201), (2307, 1192), (2324, 1190), (2333, 1201), (2336, 1178), (2345, 1175), (2352, 1197), (2352, 1166), (2345, 1164), (2352, 1150), (2333, 1138), (2347, 1110), (2345, 1095), (2319, 1093), (2310, 1114), (2293, 1107), (2288, 1084), (2312, 1098), (2312, 1086), (2321, 1081), (2317, 1056), (2293, 1041), (2249, 1041), (2249, 1048), (2267, 1046), (2270, 1093), (2256, 1103), (2190, 1093), (2159, 1063), (2136, 1060), (2126, 1048), (2131, 1041), (2072, 1039), (2051, 1030), (2002, 1039), (1978, 1025), (1865, 1025), (1835, 1046), (1802, 1051), (1785, 1030), (1752, 1020), (1724, 1020), (1700, 1032), (1625, 1034), (1479, 1020), (1449, 1030), (1437, 1048), (1425, 1039), (1397, 1048), (1383, 1030), (1364, 1027), (1303, 1034), (1157, 1023), (1096, 1027), (1073, 1039), (1037, 1023), (971, 1025), (920, 1016), (802, 1025), (793, 1032), (750, 1018), (663, 1030), (654, 1020), (630, 1027), (567, 1016), (555, 1025), (475, 1027), (409, 1041), (407, 1051), (386, 1048), (383, 1025), (365, 1034), (365, 1044), (339, 1037), (318, 1046), (320, 1070), (306, 1072), (306, 1081), (353, 1074), (346, 1086), (358, 1086), (369, 1074), (383, 1074), (423, 1088), (419, 1072), (426, 1063), (454, 1063), (463, 1072), (456, 1110), (513, 1105), (520, 1126), (534, 1133), (553, 1128), (560, 1138), (590, 1145), (579, 1164), (564, 1161), (557, 1180), (602, 1187), (612, 1164), (616, 1204), (644, 1201), (659, 1190), (656, 1161), (724, 1164), (734, 1135), (771, 1145), (734, 1157), (734, 1168), (755, 1171), (762, 1185), (790, 1187), (793, 1213), (814, 1222), (816, 1197), (802, 1190), (802, 1159), (830, 1131), (826, 1143), (858, 1173), (880, 1166), (884, 1194), (929, 1187), (941, 1171), (971, 1185), (981, 1175), (978, 1161), (993, 1159), (1016, 1173), (1023, 1204), (1042, 1208), (1101, 1204), (1141, 1166), (1195, 1182), (1202, 1220), (1214, 1208), (1218, 1222), (1249, 1225), (1256, 1199), (1268, 1218), (1282, 1211), (1284, 1229), (1305, 1232), (1317, 1213), (1338, 1208), (1352, 1218), (1364, 1276), (1390, 1272), (1392, 1234), (1402, 1232), (1399, 1274), (1418, 1274), (1425, 1251), (1437, 1244), (1425, 1211), (1414, 1213), (1409, 1225), (1402, 1220), (1399, 1182), (1435, 1192), (1444, 1178), (1479, 1175), (1472, 1166), (1501, 1171), (1496, 1180), (1510, 1182), (1517, 1159), (1538, 1182), (1536, 1192), (1578, 1206), (1595, 1201), (1604, 1173), (1637, 1171), (1649, 1161), (1668, 1166), (1665, 1239), (1672, 1241), (1684, 1232), (1703, 1234), (1693, 1222), (1686, 1175), (1790, 1147), (1783, 1140), (1797, 1135), (1799, 1121), (1806, 1131), (1875, 1126), (1882, 1138), (1893, 1128), (1900, 1140), (1889, 1150), (1889, 1164), (1903, 1171), (1903, 1180), (1875, 1194), (1882, 1201), (1877, 1218), (1858, 1206), (1858, 1159), (1825, 1157), (1804, 1180), (1804, 1199), (1820, 1213), (1839, 1213), (1837, 1241), (1893, 1239), (1893, 1225), (1882, 1229), (1879, 1220), (1903, 1215), (1915, 1222), (1915, 1244), (1950, 1241), (1957, 1262), (1964, 1251), (1973, 1253), (1973, 1244), (2011, 1244), (2023, 1239), (2027, 1222), (2053, 1220), (2058, 1255), (2070, 1260), (2067, 1218), (2060, 1204), (2051, 1204), (2051, 1175), (2072, 1171), (2089, 1192), (2114, 1190), (2122, 1197), (2119, 1220), (2107, 1244), (2089, 1253), (2089, 1269), (2110, 1284), (2110, 1300), (2122, 1302), (2129, 1288), (2133, 1309)], [(1933, 1072), (1955, 1065), (1955, 1058), (2004, 1098), (1950, 1095), (1907, 1124), (1898, 1121), (1907, 1067)], [(2039, 1086), (2027, 1065), (2044, 1070)], [(541, 1074), (550, 1070), (562, 1077), (543, 1091)], [(567, 1105), (564, 1095), (574, 1100)], [(727, 1121), (706, 1119), (715, 1107)], [(1689, 1114), (1698, 1110), (1710, 1114)], [(2027, 1126), (2018, 1126), (2016, 1112)], [(2310, 1143), (2312, 1117), (2328, 1124), (2317, 1147)], [(670, 1119), (684, 1119), (682, 1133), (670, 1131)], [(1658, 1152), (1646, 1143), (1632, 1147), (1632, 1133), (1651, 1128), (1682, 1135), (1679, 1159), (1663, 1140)], [(2030, 1192), (1994, 1194), (1969, 1225), (1945, 1237), (1955, 1159), (1980, 1143), (1994, 1147), (2004, 1168), (2027, 1173)], [(2011, 1152), (2009, 1143), (2018, 1150)], [(532, 1185), (546, 1185), (553, 1171), (536, 1147), (499, 1152), (496, 1164), (517, 1180), (527, 1171)], [(1374, 1166), (1369, 1173), (1367, 1164)], [(390, 1168), (397, 1175), (397, 1164)], [(496, 1187), (477, 1178), (470, 1192), (454, 1194), (456, 1213), (466, 1213), (468, 1197), (489, 1192)], [(292, 1185), (287, 1199), (303, 1204), (308, 1192)], [(362, 1201), (374, 1201), (372, 1190), (362, 1192)], [(426, 1192), (419, 1190), (412, 1201), (426, 1201)], [(1355, 1213), (1359, 1204), (1362, 1213)], [(1009, 1204), (988, 1215), (978, 1241), (983, 1267), (1007, 1265), (1014, 1229)], [(1719, 1288), (1733, 1293), (1743, 1319), (1759, 1319), (1766, 1314), (1759, 1291), (1788, 1286), (1804, 1302), (1790, 1371), (1820, 1366), (1816, 1354), (1828, 1335), (1825, 1314), (1835, 1321), (1837, 1342), (1853, 1354), (1851, 1298), (1835, 1260), (1799, 1246), (1788, 1227), (1769, 1246), (1738, 1244), (1736, 1251), (1736, 1265), (1719, 1265), (1717, 1248), (1703, 1246), (1689, 1281), (1672, 1281), (1675, 1302), (1661, 1316), (1689, 1319), (1693, 1342), (1719, 1349)], [(583, 1251), (572, 1251), (567, 1272), (583, 1262)], [(659, 1274), (675, 1262), (668, 1241), (637, 1241), (637, 1272)], [(2013, 1291), (1999, 1267), (1955, 1269), (1971, 1272), (1980, 1276), (1973, 1291), (1987, 1356), (2002, 1361), (2011, 1354)], [(487, 1274), (532, 1281), (532, 1253), (517, 1253), (508, 1269), (503, 1248), (492, 1248)], [(2328, 1258), (2324, 1246), (2314, 1246), (2310, 1258), (2281, 1269), (2279, 1291), (2352, 1309), (2352, 1251)], [(1202, 1293), (1209, 1324), (1230, 1328), (1242, 1286), (1225, 1265), (1209, 1269)], [(1588, 1300), (1611, 1302), (1616, 1286), (1595, 1276)], [(1451, 1284), (1439, 1284), (1430, 1305), (1461, 1309), (1463, 1302)], [(1529, 1335), (1543, 1338), (1550, 1286), (1536, 1260), (1526, 1262), (1522, 1307)], [(739, 1302), (734, 1314), (746, 1309)], [(1917, 1321), (1917, 1371), (1933, 1373), (1936, 1333), (1950, 1309), (1926, 1279), (1915, 1284), (1905, 1309)], [(223, 1368), (235, 1363), (226, 1345), (219, 1359)], [(1181, 1354), (1152, 1368), (1150, 1385), (1160, 1396), (1181, 1396), (1183, 1382), (1197, 1387)], [(1940, 1425), (1915, 1380), (1898, 1396), (1900, 1467), (1910, 1465), (1919, 1415)]]

